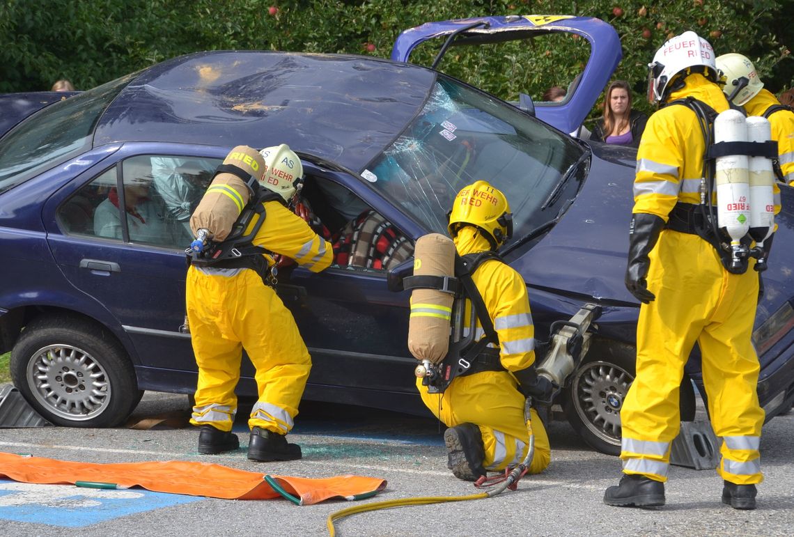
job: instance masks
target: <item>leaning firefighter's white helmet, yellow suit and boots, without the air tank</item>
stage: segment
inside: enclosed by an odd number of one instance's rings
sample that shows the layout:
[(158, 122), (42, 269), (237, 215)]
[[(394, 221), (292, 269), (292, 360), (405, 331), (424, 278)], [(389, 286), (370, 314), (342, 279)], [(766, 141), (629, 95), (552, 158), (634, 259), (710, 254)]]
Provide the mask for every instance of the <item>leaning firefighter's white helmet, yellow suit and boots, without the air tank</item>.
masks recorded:
[[(288, 200), (303, 166), (287, 145), (263, 149), (266, 171), (260, 187)], [(265, 219), (252, 243), (291, 257), (312, 272), (333, 260), (331, 245), (277, 199), (264, 202)], [(258, 216), (258, 215), (257, 215)], [(252, 230), (252, 219), (246, 233)], [(265, 270), (272, 257), (264, 257)], [(259, 260), (261, 261), (261, 260)], [(263, 266), (260, 265), (260, 266)], [(276, 291), (252, 268), (191, 266), (187, 272), (187, 318), (198, 364), (198, 386), (191, 423), (201, 427), (198, 452), (216, 454), (239, 446), (232, 432), (237, 412), (234, 388), (240, 378), (242, 350), (256, 368), (259, 399), (249, 418), (248, 458), (286, 461), (301, 458), (287, 443), (311, 369), (311, 358), (295, 319)]]

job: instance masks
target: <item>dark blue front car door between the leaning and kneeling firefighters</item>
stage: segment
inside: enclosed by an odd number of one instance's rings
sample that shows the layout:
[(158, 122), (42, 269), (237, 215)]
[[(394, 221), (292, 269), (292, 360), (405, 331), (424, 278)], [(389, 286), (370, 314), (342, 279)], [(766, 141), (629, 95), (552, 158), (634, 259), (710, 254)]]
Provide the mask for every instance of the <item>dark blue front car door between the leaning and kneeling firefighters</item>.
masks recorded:
[[(312, 192), (318, 182), (322, 183), (322, 176), (310, 172), (304, 194), (320, 215), (315, 220), (331, 228), (314, 226), (334, 246), (333, 265), (319, 274), (294, 268), (288, 278), (279, 279), (278, 286), (312, 356), (308, 389), (341, 386), (415, 395), (415, 361), (407, 348), (408, 293), (388, 291), (386, 266), (380, 262), (386, 259), (391, 267), (409, 259), (413, 240), (382, 216), (389, 208), (374, 193), (362, 199), (338, 183), (333, 193), (326, 190), (321, 194), (316, 188)], [(344, 207), (337, 205), (332, 214), (329, 206), (335, 203), (344, 203)], [(345, 215), (340, 217), (340, 211)], [(388, 230), (400, 237), (385, 239)], [(382, 245), (403, 241), (397, 247), (399, 252), (379, 256), (373, 246), (378, 236)]]

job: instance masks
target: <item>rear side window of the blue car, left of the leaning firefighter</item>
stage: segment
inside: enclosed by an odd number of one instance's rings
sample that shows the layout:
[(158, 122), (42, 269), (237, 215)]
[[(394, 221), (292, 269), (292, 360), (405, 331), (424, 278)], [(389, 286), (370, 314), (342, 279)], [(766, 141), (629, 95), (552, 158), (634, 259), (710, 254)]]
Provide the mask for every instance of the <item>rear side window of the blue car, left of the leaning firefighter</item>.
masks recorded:
[(218, 164), (221, 160), (133, 156), (67, 199), (57, 211), (58, 222), (66, 234), (184, 249), (193, 238), (191, 214)]

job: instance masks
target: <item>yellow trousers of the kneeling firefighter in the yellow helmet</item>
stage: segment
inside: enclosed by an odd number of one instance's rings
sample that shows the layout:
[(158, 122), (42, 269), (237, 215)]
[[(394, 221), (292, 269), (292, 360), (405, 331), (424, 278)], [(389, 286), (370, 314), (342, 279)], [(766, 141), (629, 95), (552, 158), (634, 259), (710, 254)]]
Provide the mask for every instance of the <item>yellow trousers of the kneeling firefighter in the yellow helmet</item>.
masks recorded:
[[(483, 467), (500, 471), (518, 465), (529, 450), (529, 431), (524, 419), (525, 398), (516, 389), (510, 373), (483, 371), (457, 377), (444, 393), (428, 393), (418, 379), (416, 387), (422, 402), (447, 426), (474, 423), (483, 436)], [(529, 473), (540, 473), (549, 466), (549, 437), (538, 413), (530, 411), (535, 435), (535, 453)]]

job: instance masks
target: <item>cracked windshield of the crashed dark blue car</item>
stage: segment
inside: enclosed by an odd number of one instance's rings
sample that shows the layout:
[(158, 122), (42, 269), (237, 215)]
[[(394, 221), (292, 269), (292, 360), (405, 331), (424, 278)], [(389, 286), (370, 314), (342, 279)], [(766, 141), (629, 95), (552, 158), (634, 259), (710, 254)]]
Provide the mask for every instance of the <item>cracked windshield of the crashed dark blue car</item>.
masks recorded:
[(583, 152), (514, 106), (439, 77), (422, 112), (361, 176), (438, 233), (457, 192), (488, 181), (507, 196), (518, 238), (557, 215), (541, 207)]

